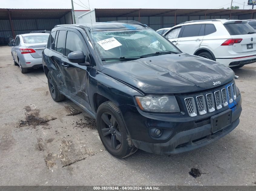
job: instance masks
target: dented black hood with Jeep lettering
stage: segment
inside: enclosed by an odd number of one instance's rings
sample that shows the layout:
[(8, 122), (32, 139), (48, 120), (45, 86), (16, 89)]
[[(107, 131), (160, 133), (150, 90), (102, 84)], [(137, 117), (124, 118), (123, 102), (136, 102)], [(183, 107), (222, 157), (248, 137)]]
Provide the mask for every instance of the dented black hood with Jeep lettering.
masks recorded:
[[(146, 94), (189, 93), (233, 80), (234, 72), (217, 62), (189, 54), (165, 54), (104, 65), (103, 73)], [(220, 81), (221, 84), (213, 85)]]

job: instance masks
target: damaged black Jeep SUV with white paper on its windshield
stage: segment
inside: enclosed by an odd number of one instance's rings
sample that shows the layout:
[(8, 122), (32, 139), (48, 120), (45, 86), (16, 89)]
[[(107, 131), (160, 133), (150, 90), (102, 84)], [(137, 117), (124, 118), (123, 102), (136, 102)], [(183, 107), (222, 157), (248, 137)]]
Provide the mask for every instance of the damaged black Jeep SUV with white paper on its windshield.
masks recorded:
[(190, 151), (238, 126), (234, 72), (139, 22), (55, 26), (42, 55), (53, 100), (93, 116), (115, 157)]

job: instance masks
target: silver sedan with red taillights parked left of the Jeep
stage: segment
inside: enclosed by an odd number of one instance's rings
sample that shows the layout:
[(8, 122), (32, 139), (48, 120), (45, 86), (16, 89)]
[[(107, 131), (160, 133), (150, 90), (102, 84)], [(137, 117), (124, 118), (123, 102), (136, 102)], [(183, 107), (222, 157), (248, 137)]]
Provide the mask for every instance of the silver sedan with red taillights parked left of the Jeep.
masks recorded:
[(20, 67), (21, 72), (27, 73), (29, 68), (42, 67), (42, 51), (46, 47), (48, 33), (19, 34), (14, 41), (11, 53), (14, 65)]

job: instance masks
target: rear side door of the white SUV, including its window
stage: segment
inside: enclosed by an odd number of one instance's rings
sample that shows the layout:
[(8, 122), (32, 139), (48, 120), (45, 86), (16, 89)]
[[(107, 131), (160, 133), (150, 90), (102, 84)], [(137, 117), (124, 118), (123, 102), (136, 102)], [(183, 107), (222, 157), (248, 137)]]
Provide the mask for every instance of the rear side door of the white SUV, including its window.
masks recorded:
[(203, 41), (204, 27), (205, 24), (184, 25), (176, 46), (184, 53), (194, 54)]

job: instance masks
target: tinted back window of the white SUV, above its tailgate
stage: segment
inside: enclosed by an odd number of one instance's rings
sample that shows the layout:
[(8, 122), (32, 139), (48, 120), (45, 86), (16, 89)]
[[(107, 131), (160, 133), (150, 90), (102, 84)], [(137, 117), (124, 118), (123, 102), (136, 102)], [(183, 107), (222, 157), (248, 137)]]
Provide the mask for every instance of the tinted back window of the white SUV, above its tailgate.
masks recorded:
[(224, 24), (230, 35), (248, 34), (255, 30), (247, 23), (228, 23)]

